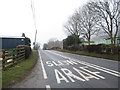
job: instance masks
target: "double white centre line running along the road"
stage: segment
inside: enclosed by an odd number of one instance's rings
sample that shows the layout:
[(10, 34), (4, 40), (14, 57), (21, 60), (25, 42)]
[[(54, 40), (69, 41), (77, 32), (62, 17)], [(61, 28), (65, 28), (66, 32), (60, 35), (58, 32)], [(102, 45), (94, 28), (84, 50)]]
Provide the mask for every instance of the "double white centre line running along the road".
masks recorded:
[(66, 59), (69, 59), (69, 60), (72, 60), (72, 61), (77, 61), (77, 62), (80, 63), (80, 64), (83, 64), (83, 65), (89, 66), (89, 67), (91, 67), (91, 68), (94, 68), (94, 69), (97, 69), (97, 70), (100, 70), (100, 71), (109, 73), (109, 74), (111, 74), (111, 75), (120, 77), (120, 72), (117, 72), (117, 71), (115, 71), (115, 70), (111, 70), (111, 69), (108, 69), (108, 68), (104, 68), (104, 67), (101, 67), (101, 66), (98, 66), (98, 65), (94, 65), (94, 64), (91, 64), (91, 63), (87, 63), (87, 62), (84, 62), (84, 61), (80, 61), (80, 60), (77, 60), (77, 59), (69, 58), (69, 57), (66, 57), (66, 56), (63, 56), (63, 55), (54, 53), (54, 52), (50, 52), (50, 53), (53, 53), (53, 54), (55, 54), (55, 55), (61, 56), (61, 57), (63, 57), (63, 58), (66, 58)]

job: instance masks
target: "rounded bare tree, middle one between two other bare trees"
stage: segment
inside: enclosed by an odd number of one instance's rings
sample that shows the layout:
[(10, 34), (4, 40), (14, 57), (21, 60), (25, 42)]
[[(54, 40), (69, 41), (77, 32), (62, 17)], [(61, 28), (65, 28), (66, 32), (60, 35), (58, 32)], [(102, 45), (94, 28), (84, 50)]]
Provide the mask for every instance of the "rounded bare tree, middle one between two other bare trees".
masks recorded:
[(86, 4), (82, 9), (79, 9), (79, 28), (81, 28), (83, 37), (87, 39), (88, 45), (90, 45), (92, 35), (95, 35), (99, 30), (97, 25), (99, 18), (92, 8), (90, 4)]

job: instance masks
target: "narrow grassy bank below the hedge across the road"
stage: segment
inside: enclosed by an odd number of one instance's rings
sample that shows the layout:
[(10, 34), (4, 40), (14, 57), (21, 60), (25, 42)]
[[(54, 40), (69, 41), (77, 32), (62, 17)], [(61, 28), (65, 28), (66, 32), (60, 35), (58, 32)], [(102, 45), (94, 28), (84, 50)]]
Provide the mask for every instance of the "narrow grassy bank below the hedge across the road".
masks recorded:
[(96, 54), (96, 53), (88, 53), (84, 51), (69, 51), (69, 50), (58, 50), (58, 51), (120, 61), (119, 58), (120, 55)]

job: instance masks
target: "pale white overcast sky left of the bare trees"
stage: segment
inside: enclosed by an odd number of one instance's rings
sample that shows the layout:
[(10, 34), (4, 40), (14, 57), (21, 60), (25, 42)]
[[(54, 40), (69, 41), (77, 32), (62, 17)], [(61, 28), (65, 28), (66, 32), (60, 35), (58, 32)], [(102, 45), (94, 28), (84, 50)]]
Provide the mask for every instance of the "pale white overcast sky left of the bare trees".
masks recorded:
[[(37, 42), (66, 38), (63, 25), (87, 0), (32, 0), (35, 8)], [(0, 0), (0, 35), (21, 36), (33, 43), (35, 26), (30, 0)]]

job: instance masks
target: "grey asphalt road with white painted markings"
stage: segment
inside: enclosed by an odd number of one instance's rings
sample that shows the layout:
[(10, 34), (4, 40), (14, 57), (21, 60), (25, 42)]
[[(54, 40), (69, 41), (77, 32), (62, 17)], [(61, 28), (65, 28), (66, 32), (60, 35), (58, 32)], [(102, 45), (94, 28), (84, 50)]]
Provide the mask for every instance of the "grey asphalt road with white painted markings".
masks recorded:
[(107, 59), (39, 50), (31, 74), (11, 88), (118, 88), (119, 65)]

